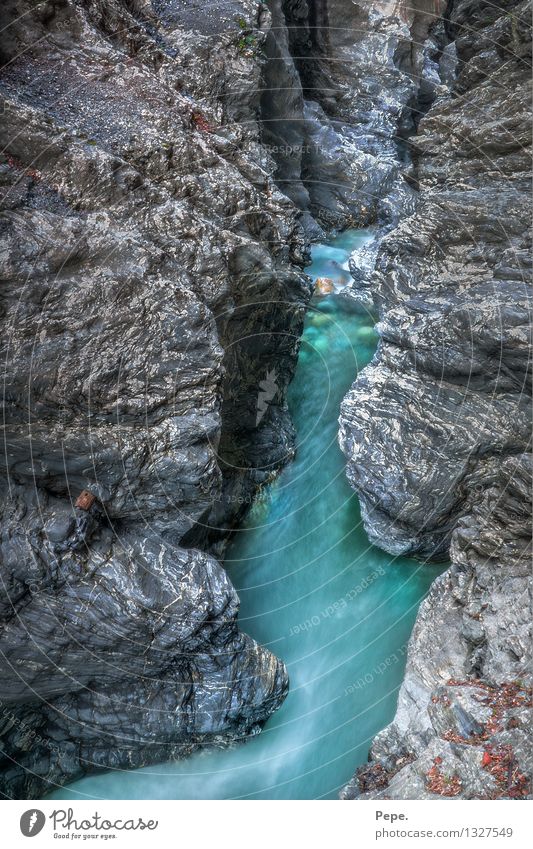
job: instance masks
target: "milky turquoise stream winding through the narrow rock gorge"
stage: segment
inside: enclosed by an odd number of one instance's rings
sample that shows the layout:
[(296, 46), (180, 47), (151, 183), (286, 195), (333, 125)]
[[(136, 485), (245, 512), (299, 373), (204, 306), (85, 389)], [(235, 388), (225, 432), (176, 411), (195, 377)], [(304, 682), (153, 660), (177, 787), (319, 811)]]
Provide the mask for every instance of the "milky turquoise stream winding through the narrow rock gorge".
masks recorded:
[[(339, 248), (367, 233), (343, 234)], [(322, 274), (331, 245), (317, 245)], [(309, 311), (290, 407), (297, 454), (258, 498), (228, 550), (243, 630), (287, 664), (290, 693), (246, 745), (85, 778), (50, 798), (335, 798), (394, 714), (418, 605), (437, 574), (372, 547), (344, 475), (337, 418), (372, 358), (369, 318), (342, 298)]]

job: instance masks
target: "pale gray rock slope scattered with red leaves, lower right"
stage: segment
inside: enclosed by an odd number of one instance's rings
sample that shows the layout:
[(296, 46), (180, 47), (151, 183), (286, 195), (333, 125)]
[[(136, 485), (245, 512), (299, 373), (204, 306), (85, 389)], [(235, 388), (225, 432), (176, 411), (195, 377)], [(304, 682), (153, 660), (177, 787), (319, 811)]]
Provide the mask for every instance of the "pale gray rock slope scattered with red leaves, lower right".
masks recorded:
[(411, 637), (394, 721), (341, 798), (531, 794), (531, 456), (461, 518)]

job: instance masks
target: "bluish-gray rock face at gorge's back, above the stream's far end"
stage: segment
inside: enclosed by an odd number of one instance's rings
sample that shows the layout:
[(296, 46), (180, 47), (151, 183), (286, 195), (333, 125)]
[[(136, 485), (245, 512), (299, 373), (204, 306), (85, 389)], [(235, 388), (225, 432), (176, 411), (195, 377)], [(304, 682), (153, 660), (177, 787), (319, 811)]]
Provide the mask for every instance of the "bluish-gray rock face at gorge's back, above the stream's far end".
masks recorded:
[(441, 49), (444, 34), (429, 30), (443, 5), (269, 2), (262, 138), (311, 236), (317, 224), (385, 225), (409, 206), (398, 125), (412, 124), (420, 75), (426, 98), (445, 88), (425, 67)]

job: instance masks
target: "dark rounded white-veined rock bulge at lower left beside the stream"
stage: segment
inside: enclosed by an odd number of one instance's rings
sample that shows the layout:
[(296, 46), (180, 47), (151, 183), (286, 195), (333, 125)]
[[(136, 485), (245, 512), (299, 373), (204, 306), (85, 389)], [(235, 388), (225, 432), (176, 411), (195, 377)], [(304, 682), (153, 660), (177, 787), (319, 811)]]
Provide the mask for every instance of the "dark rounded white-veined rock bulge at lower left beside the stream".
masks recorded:
[(237, 595), (213, 557), (101, 522), (59, 555), (42, 522), (64, 525), (64, 501), (21, 488), (8, 503), (5, 796), (244, 740), (279, 707), (283, 664), (239, 633)]

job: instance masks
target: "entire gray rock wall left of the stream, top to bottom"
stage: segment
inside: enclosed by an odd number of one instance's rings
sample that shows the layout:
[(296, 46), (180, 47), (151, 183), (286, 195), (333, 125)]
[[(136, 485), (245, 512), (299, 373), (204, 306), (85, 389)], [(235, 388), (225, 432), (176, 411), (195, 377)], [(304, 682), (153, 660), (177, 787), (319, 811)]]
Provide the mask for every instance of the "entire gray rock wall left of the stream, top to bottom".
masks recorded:
[(260, 147), (270, 18), (219, 6), (4, 10), (7, 797), (245, 739), (286, 693), (213, 554), (291, 455), (310, 286)]

